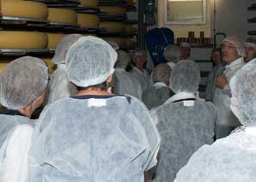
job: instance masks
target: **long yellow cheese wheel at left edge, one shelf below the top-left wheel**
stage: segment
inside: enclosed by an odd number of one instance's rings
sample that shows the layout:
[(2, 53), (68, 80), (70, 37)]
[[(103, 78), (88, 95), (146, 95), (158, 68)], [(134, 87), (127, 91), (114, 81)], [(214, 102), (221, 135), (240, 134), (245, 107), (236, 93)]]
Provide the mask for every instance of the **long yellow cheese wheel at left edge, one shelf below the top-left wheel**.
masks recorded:
[(0, 31), (0, 49), (45, 49), (47, 36), (43, 32)]

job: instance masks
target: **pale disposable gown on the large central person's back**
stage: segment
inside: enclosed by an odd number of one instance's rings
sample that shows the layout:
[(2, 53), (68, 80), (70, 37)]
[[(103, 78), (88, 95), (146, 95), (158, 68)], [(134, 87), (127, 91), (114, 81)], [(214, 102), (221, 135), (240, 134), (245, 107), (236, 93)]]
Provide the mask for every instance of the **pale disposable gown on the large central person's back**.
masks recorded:
[(30, 181), (143, 182), (160, 144), (148, 109), (135, 97), (81, 98), (61, 99), (41, 114)]

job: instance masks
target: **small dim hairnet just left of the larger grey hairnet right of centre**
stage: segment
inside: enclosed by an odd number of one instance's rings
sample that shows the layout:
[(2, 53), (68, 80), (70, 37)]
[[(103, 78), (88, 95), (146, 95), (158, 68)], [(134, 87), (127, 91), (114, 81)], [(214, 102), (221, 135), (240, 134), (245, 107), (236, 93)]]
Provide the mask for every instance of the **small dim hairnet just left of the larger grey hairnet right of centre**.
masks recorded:
[(153, 82), (164, 82), (165, 84), (169, 83), (172, 73), (172, 68), (168, 64), (159, 64), (154, 69), (153, 72)]

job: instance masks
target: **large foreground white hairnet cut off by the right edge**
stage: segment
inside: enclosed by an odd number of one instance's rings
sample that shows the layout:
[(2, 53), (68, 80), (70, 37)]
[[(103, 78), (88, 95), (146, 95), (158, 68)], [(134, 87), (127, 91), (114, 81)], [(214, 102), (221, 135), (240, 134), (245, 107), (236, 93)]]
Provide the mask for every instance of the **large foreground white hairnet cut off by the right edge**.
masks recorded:
[(231, 109), (242, 125), (256, 124), (256, 62), (248, 62), (230, 80)]

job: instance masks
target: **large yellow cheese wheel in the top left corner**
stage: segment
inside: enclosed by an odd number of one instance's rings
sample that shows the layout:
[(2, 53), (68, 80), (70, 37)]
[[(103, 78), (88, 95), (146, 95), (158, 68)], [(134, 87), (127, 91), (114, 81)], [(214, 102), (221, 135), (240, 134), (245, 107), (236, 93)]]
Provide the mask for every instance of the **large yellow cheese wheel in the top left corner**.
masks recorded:
[(45, 3), (21, 0), (1, 0), (4, 16), (47, 20), (48, 9)]

